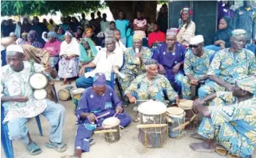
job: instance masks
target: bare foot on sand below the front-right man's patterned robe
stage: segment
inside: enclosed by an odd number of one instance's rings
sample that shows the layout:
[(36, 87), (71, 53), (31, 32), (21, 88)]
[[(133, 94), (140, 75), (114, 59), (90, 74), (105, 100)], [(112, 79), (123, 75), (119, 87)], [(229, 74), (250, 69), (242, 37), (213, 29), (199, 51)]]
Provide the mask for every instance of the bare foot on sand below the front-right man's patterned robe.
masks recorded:
[(206, 141), (201, 143), (192, 143), (189, 146), (196, 152), (215, 152), (215, 147), (213, 145), (209, 145)]

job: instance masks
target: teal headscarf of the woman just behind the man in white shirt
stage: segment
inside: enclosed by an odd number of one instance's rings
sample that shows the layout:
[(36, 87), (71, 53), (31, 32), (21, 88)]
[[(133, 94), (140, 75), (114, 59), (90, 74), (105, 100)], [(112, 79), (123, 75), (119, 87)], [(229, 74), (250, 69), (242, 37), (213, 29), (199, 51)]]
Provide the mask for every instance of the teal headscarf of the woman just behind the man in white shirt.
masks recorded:
[(85, 44), (85, 42), (88, 42), (89, 47), (91, 48), (91, 51), (93, 52), (93, 56), (96, 56), (97, 50), (95, 47), (95, 44), (93, 42), (93, 40), (89, 39), (89, 38), (82, 38), (81, 42), (80, 42), (80, 56), (79, 56), (79, 60), (81, 61), (85, 61), (88, 62), (90, 61), (92, 58), (87, 56), (88, 52), (85, 50), (85, 47), (83, 44)]

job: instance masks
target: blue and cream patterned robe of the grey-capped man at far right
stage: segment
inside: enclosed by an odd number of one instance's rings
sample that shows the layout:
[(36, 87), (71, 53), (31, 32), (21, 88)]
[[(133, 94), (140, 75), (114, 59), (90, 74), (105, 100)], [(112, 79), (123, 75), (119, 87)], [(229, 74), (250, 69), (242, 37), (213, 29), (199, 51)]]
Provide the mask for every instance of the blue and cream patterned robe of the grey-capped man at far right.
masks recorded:
[[(211, 62), (207, 75), (216, 75), (226, 83), (234, 84), (234, 79), (242, 75), (256, 75), (256, 61), (253, 52), (243, 48), (240, 52), (229, 52), (225, 48), (216, 52)], [(207, 83), (199, 88), (199, 98), (216, 91), (225, 91), (226, 87), (207, 80)]]

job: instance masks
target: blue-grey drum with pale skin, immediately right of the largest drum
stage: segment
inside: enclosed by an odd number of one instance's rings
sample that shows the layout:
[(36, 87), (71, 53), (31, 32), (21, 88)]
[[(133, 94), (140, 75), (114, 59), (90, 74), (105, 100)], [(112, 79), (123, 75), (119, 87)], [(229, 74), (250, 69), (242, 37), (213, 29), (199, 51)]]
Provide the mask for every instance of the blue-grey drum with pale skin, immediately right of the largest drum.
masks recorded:
[(169, 137), (183, 137), (184, 129), (176, 128), (185, 122), (185, 111), (179, 107), (167, 108), (167, 121), (169, 122)]

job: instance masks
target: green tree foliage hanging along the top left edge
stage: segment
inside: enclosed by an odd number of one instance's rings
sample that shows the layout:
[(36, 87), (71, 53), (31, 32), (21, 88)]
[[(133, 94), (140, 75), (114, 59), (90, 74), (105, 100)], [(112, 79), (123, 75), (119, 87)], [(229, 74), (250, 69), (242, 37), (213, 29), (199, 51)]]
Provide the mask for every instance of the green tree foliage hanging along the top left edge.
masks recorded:
[(1, 15), (43, 15), (56, 11), (69, 15), (96, 11), (104, 6), (100, 1), (2, 1)]

